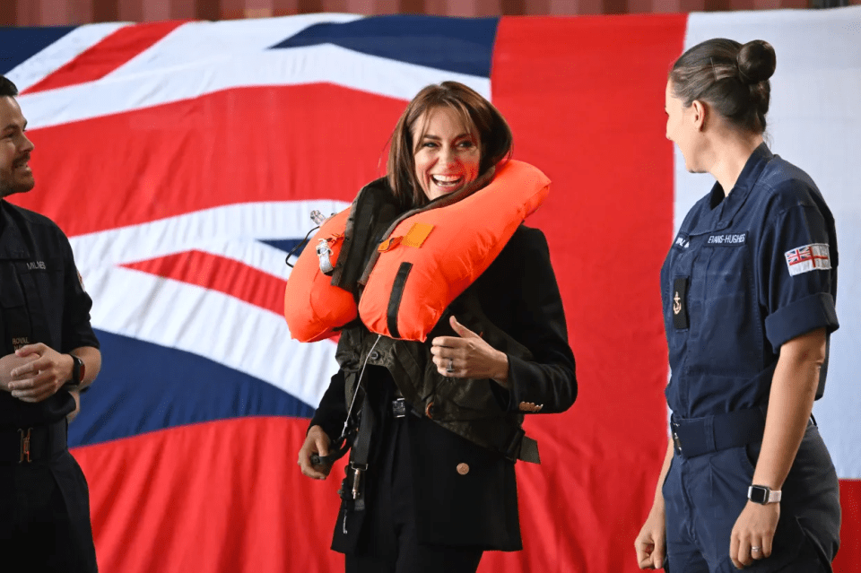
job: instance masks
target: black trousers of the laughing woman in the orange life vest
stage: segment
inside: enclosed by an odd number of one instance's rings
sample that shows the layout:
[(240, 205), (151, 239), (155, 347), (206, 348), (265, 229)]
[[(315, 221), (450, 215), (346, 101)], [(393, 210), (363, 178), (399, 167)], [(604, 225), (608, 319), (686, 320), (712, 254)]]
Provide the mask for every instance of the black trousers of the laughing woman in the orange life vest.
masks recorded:
[[(408, 414), (412, 415), (412, 414)], [(346, 573), (474, 573), (483, 551), (418, 542), (407, 421), (387, 424), (360, 551), (345, 557)], [(340, 517), (340, 516), (339, 516)]]

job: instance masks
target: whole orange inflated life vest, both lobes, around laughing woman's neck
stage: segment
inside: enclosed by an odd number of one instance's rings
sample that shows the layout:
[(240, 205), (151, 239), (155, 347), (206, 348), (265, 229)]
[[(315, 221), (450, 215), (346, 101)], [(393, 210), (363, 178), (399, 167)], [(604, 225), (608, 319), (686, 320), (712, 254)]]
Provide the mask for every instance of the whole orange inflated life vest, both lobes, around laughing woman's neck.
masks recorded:
[[(331, 265), (338, 260), (351, 210), (336, 214), (302, 251), (287, 281), (284, 317), (291, 337), (300, 342), (322, 340), (351, 322), (358, 311), (373, 333), (424, 342), (445, 308), (544, 203), (549, 187), (550, 179), (539, 169), (511, 160), (497, 169), (487, 186), (457, 203), (400, 221), (363, 273), (358, 309), (350, 291), (332, 285), (317, 254), (319, 247)], [(324, 260), (324, 266), (329, 261)]]

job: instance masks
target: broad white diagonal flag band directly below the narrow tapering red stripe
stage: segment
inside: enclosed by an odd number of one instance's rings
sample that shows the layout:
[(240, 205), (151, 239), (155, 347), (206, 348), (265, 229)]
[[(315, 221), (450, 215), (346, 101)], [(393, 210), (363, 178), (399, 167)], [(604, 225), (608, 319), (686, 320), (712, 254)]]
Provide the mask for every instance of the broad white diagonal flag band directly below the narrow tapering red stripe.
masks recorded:
[(219, 291), (116, 266), (90, 269), (94, 328), (191, 352), (317, 407), (335, 344), (291, 340), (284, 317)]

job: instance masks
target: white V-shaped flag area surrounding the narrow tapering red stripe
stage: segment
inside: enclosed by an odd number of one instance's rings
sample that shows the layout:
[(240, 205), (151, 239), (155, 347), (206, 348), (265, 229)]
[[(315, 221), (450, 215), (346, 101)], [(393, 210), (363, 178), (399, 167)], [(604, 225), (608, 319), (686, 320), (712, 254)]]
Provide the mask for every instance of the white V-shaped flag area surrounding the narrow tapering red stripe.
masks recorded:
[[(312, 210), (340, 201), (232, 204), (70, 239), (92, 300), (92, 326), (192, 352), (317, 406), (335, 373), (335, 344), (291, 340), (281, 315), (204, 289), (119, 265), (196, 249), (286, 279), (284, 252), (260, 239), (301, 239)], [(229, 336), (218, 333), (230, 333)]]

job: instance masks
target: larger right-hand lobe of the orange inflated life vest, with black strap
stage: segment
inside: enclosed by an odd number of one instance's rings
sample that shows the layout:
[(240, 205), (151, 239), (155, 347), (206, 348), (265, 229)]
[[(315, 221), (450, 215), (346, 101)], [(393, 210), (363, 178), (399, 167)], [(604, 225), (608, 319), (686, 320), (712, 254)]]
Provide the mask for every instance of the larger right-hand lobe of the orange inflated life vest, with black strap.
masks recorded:
[(398, 223), (366, 272), (362, 323), (376, 334), (424, 342), (448, 305), (544, 203), (549, 188), (539, 169), (511, 160), (474, 194)]

